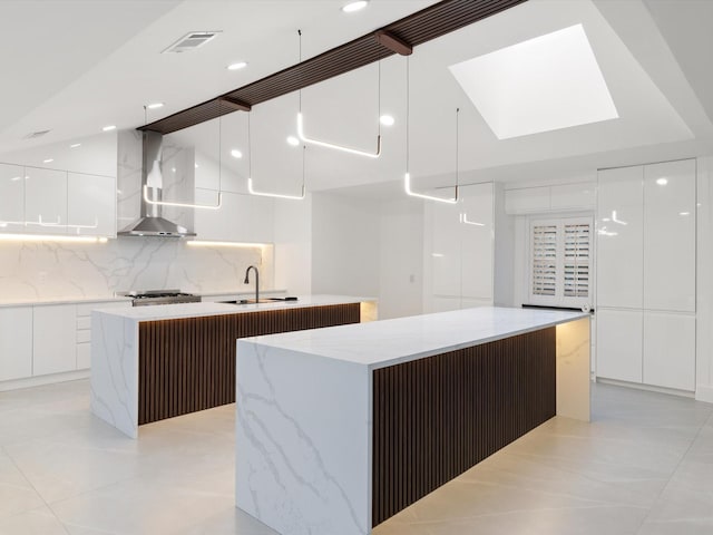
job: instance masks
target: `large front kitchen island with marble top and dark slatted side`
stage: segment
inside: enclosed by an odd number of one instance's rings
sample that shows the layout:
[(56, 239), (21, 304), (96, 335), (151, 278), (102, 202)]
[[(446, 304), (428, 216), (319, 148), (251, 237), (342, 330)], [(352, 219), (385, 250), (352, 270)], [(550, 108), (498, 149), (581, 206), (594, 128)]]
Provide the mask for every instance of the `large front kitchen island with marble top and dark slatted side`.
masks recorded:
[(364, 535), (555, 415), (589, 420), (588, 314), (479, 308), (237, 341), (236, 506)]

